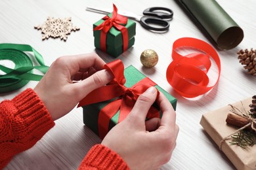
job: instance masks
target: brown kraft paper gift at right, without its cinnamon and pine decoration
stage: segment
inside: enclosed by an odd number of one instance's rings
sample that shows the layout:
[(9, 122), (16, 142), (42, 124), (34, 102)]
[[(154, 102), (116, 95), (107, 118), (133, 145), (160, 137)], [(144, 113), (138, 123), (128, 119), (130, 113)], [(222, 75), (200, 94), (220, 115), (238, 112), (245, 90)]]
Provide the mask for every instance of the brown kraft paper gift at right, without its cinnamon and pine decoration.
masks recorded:
[[(232, 106), (243, 110), (249, 110), (249, 104), (251, 104), (252, 98), (249, 97), (242, 101), (238, 101)], [(243, 105), (242, 105), (242, 103)], [(239, 127), (226, 124), (226, 116), (230, 113), (231, 106), (222, 107), (221, 109), (213, 110), (203, 114), (200, 124), (203, 129), (209, 134), (211, 139), (220, 147), (221, 141), (234, 133)], [(249, 170), (256, 169), (256, 145), (247, 146), (246, 149), (238, 146), (231, 145), (232, 138), (225, 140), (221, 146), (221, 150), (226, 154), (226, 157), (234, 164), (237, 169)], [(220, 152), (221, 152), (220, 150)]]

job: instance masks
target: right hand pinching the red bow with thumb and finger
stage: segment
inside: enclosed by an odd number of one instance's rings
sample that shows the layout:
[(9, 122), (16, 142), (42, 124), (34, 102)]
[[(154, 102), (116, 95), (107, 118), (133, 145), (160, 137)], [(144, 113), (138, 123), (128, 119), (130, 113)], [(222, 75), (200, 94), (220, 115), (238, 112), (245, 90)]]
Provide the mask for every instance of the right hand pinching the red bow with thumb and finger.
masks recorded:
[[(160, 93), (156, 100), (156, 88), (151, 87), (139, 96), (130, 114), (103, 139), (102, 144), (114, 150), (125, 160), (130, 169), (158, 169), (171, 159), (176, 146), (179, 126), (176, 113), (168, 99)], [(163, 116), (146, 119), (154, 101)]]

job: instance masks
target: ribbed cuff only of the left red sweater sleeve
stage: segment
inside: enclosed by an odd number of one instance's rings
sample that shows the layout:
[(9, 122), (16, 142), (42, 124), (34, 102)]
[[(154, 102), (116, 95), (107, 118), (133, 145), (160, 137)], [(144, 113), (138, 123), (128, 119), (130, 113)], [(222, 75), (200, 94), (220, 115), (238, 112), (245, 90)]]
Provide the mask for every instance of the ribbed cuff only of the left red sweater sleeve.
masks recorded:
[(14, 121), (12, 128), (20, 143), (34, 144), (54, 126), (47, 108), (31, 88), (16, 95), (12, 102), (18, 109), (16, 115), (14, 114), (17, 121)]

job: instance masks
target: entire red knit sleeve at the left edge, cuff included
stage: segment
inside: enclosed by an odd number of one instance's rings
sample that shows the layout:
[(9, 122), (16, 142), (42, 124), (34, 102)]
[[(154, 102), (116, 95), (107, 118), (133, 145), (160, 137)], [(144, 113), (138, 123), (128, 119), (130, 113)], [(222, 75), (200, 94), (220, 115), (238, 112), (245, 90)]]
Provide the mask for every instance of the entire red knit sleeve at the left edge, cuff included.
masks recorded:
[(31, 148), (54, 126), (38, 95), (27, 89), (0, 103), (0, 169), (12, 156)]

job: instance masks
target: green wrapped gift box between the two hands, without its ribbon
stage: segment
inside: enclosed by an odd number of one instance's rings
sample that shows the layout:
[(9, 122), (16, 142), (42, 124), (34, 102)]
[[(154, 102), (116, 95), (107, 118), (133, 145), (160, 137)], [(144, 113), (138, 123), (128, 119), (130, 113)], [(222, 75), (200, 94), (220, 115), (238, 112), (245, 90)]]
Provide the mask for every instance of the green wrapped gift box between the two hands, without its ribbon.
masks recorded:
[[(133, 65), (130, 65), (124, 70), (124, 76), (126, 79), (125, 86), (127, 88), (131, 88), (131, 86), (135, 85), (137, 82), (145, 78), (146, 76), (140, 73), (139, 70), (137, 70)], [(171, 105), (173, 105), (173, 109), (176, 110), (177, 105), (177, 99), (167, 93), (165, 90), (163, 90), (160, 86), (155, 86), (160, 92), (162, 92), (165, 97), (170, 101)], [(109, 101), (102, 101), (99, 103), (94, 103), (91, 105), (85, 105), (83, 106), (83, 123), (89, 127), (93, 132), (96, 133), (96, 135), (99, 135), (98, 133), (98, 115), (100, 110), (108, 105), (112, 100)], [(157, 109), (159, 109), (158, 105), (154, 103), (153, 105)], [(108, 126), (108, 131), (112, 129), (112, 127), (116, 126), (119, 118), (119, 111), (110, 119), (110, 123)]]

